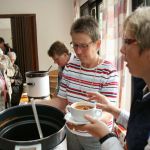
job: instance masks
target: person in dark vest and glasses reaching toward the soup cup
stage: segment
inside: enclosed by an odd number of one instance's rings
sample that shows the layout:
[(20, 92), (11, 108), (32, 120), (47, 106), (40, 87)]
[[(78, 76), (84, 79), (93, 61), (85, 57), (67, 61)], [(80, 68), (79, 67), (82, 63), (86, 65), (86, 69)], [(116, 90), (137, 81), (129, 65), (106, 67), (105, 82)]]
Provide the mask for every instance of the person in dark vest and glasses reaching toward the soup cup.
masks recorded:
[[(123, 45), (121, 53), (130, 73), (142, 78), (150, 89), (150, 7), (137, 8), (124, 22)], [(150, 150), (150, 92), (137, 98), (130, 110), (130, 115), (120, 108), (114, 107), (109, 98), (100, 93), (87, 93), (89, 100), (97, 100), (97, 107), (107, 111), (116, 122), (127, 128), (128, 150)], [(103, 150), (121, 150), (117, 138), (109, 131), (106, 124), (90, 116), (85, 116), (91, 124), (78, 126), (93, 136), (100, 138)], [(148, 140), (149, 139), (149, 140)], [(114, 147), (114, 148), (113, 148)], [(144, 148), (145, 147), (145, 148)]]

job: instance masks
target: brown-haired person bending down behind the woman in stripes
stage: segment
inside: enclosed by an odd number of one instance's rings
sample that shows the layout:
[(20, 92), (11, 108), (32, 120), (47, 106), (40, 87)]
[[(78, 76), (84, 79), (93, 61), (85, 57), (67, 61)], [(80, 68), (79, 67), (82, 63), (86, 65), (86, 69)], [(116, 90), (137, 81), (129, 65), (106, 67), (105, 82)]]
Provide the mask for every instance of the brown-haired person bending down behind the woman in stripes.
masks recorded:
[(54, 63), (56, 63), (59, 66), (58, 84), (57, 84), (57, 89), (56, 89), (56, 93), (58, 93), (64, 67), (67, 65), (67, 63), (73, 60), (73, 58), (75, 57), (75, 54), (69, 53), (69, 50), (67, 49), (65, 44), (60, 41), (55, 41), (50, 46), (47, 53), (48, 53), (48, 56), (53, 59)]

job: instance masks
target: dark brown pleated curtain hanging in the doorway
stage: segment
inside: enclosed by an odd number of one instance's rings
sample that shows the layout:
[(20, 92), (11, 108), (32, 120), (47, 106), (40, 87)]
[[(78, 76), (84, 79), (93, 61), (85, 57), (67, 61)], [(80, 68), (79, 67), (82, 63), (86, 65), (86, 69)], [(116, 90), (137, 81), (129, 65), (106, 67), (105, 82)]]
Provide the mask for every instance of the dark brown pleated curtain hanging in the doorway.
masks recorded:
[(17, 64), (25, 82), (25, 72), (38, 70), (38, 50), (35, 15), (11, 17), (12, 42)]

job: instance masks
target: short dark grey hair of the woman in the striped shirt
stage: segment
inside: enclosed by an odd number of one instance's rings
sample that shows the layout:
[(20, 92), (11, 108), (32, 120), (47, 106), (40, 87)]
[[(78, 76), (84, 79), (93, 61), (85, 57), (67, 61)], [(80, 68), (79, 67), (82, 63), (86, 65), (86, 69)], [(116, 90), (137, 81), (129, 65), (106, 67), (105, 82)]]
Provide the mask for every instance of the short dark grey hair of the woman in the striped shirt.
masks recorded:
[(77, 19), (71, 27), (70, 34), (85, 33), (89, 35), (93, 42), (100, 39), (97, 21), (91, 16), (83, 16)]

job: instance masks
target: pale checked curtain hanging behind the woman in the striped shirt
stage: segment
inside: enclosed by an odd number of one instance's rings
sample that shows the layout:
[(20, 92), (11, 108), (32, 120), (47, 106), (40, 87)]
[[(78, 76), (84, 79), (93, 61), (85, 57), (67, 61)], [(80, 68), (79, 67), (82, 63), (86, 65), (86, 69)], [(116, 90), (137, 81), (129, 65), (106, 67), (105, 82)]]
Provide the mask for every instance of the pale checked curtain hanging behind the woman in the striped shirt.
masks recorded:
[[(122, 26), (127, 16), (129, 7), (127, 0), (103, 0), (103, 24), (102, 24), (102, 45), (100, 54), (103, 58), (111, 61), (117, 67), (119, 73), (119, 96), (118, 106), (124, 106), (124, 103), (131, 100), (131, 91), (126, 85), (126, 79), (130, 78), (123, 59), (121, 58), (120, 48), (122, 45)], [(130, 84), (130, 79), (128, 80)], [(126, 97), (126, 95), (128, 95)], [(129, 107), (129, 106), (127, 106)]]

